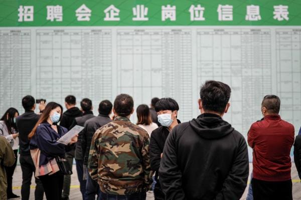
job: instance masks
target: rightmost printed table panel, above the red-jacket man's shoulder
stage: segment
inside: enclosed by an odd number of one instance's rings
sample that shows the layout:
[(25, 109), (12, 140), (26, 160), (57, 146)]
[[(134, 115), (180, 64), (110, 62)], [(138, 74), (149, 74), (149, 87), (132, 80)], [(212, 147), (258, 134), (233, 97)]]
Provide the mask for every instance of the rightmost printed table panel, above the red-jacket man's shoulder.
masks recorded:
[(301, 126), (301, 29), (276, 29), (277, 92), (281, 116)]

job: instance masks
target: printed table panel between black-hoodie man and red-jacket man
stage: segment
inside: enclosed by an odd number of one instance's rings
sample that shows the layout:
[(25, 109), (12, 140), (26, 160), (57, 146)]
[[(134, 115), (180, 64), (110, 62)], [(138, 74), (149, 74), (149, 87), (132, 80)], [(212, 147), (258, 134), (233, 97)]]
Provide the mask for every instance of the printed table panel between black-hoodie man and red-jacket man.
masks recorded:
[(232, 89), (225, 120), (244, 135), (261, 117), (260, 105), (271, 93), (269, 29), (198, 29), (198, 84), (214, 79)]

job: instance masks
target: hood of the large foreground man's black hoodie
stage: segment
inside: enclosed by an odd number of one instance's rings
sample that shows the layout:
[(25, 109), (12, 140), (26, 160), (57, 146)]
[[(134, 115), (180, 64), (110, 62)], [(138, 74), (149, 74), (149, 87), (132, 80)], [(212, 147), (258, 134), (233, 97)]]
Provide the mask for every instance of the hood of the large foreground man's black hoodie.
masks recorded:
[(230, 123), (217, 114), (203, 113), (189, 121), (192, 128), (205, 139), (217, 139), (233, 132)]

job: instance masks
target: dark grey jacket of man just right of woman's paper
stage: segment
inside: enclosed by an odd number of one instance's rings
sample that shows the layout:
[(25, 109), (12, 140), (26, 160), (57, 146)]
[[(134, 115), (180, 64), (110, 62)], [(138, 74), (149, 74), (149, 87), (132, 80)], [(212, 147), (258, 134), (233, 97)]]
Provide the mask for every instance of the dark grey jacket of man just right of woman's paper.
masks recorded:
[[(93, 117), (95, 116), (92, 111), (84, 112), (82, 116), (78, 116), (73, 120), (73, 123), (70, 127), (74, 127), (75, 125), (84, 126), (86, 120)], [(75, 143), (75, 155), (74, 155), (75, 159), (80, 159), (80, 160), (84, 159), (83, 151), (81, 148), (82, 135), (83, 135), (83, 131), (80, 131), (80, 133), (78, 133), (77, 142)]]

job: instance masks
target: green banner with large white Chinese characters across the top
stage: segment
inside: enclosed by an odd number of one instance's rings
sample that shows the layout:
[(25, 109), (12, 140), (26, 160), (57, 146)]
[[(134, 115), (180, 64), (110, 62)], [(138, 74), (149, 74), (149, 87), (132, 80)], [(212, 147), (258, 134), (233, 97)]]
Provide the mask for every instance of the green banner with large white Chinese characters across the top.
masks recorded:
[(301, 25), (301, 1), (1, 1), (0, 26), (86, 25)]

